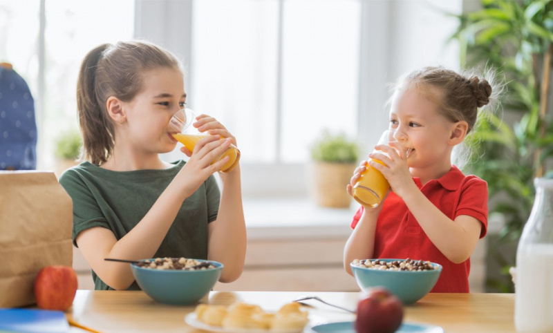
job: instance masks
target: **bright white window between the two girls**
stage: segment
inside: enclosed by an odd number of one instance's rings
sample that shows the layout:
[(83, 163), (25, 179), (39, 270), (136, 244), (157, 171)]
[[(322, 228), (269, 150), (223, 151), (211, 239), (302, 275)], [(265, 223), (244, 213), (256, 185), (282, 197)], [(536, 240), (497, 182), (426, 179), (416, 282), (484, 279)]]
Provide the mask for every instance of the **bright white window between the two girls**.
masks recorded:
[(304, 163), (323, 129), (355, 137), (358, 0), (195, 1), (189, 105), (244, 163)]

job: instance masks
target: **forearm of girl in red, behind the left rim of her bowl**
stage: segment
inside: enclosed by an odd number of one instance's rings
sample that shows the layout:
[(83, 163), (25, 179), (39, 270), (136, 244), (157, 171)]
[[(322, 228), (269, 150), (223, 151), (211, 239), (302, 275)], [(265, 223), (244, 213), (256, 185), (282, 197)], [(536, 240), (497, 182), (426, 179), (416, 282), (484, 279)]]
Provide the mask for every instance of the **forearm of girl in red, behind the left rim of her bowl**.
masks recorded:
[(350, 263), (354, 259), (367, 259), (373, 256), (375, 249), (375, 231), (378, 213), (373, 209), (364, 209), (357, 226), (346, 242), (344, 247), (344, 269), (348, 274), (351, 272)]

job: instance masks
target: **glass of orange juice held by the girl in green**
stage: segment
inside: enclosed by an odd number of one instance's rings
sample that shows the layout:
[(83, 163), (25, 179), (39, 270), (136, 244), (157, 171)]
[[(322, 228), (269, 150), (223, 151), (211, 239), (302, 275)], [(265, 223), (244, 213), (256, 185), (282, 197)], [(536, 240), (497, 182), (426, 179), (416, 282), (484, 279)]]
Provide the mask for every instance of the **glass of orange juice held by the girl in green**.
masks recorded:
[[(189, 151), (194, 151), (194, 147), (198, 141), (209, 136), (209, 134), (202, 133), (198, 131), (196, 127), (192, 126), (192, 123), (196, 121), (196, 117), (196, 113), (194, 113), (194, 111), (190, 108), (183, 108), (171, 117), (169, 125), (167, 126), (169, 133), (175, 138), (175, 140), (184, 144)], [(221, 137), (220, 140), (225, 140), (225, 138)], [(219, 170), (221, 172), (229, 172), (236, 167), (238, 161), (240, 160), (240, 151), (236, 148), (236, 146), (234, 146), (234, 144), (231, 144), (223, 154), (212, 161), (212, 164), (218, 160), (221, 160), (221, 158), (225, 158), (225, 156), (228, 156), (229, 160), (225, 163), (225, 165), (223, 165), (221, 170)]]

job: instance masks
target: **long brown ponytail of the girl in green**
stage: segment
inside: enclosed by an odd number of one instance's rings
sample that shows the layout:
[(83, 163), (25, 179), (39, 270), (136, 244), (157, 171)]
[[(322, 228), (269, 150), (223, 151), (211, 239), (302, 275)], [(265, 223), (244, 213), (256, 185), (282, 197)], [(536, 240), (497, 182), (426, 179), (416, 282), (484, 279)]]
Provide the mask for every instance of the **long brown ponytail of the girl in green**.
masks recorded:
[(110, 44), (91, 50), (81, 65), (77, 81), (77, 112), (83, 137), (82, 160), (102, 164), (113, 151), (113, 123), (107, 119), (102, 99), (97, 96), (97, 70), (104, 51)]

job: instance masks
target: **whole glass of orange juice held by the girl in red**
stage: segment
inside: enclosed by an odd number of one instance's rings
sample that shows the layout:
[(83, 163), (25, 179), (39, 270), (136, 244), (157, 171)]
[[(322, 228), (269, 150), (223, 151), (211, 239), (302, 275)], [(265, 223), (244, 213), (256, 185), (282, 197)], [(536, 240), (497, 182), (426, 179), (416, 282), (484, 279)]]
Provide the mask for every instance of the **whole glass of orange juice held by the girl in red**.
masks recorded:
[[(400, 143), (407, 149), (409, 155), (411, 144), (407, 135), (400, 131), (387, 130), (382, 133), (380, 140), (378, 140), (378, 144), (389, 144), (391, 142)], [(373, 153), (384, 152), (373, 151)], [(374, 161), (384, 164), (379, 160)], [(378, 207), (384, 196), (386, 196), (388, 189), (390, 189), (390, 184), (388, 184), (388, 180), (386, 180), (384, 175), (366, 163), (366, 170), (361, 173), (361, 178), (353, 186), (353, 198), (365, 207)]]

